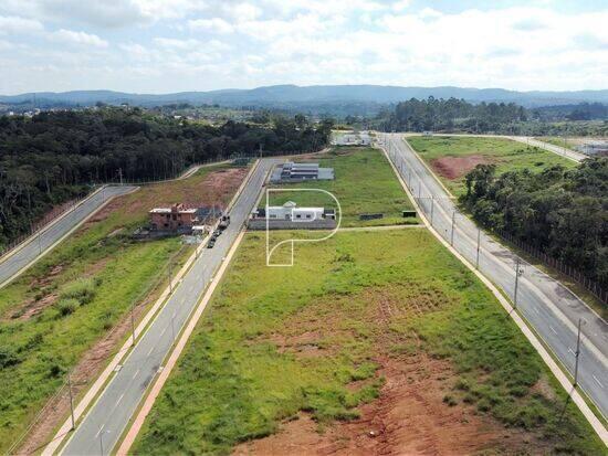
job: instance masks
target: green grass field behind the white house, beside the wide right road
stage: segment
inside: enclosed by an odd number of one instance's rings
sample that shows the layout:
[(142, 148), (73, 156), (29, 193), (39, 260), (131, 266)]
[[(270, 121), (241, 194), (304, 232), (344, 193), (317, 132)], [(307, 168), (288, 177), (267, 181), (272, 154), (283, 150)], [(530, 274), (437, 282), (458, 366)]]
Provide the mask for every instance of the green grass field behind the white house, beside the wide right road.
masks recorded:
[[(296, 160), (302, 161), (302, 160)], [(335, 180), (274, 184), (276, 189), (322, 189), (333, 193), (343, 210), (342, 226), (396, 225), (418, 223), (416, 218), (403, 219), (402, 210), (412, 209), (395, 172), (382, 152), (371, 148), (336, 148), (311, 159), (321, 167), (334, 168)], [(325, 194), (315, 192), (271, 193), (271, 204), (294, 201), (298, 205), (335, 208)], [(265, 204), (265, 199), (262, 200)], [(384, 218), (360, 221), (361, 213), (382, 213)]]

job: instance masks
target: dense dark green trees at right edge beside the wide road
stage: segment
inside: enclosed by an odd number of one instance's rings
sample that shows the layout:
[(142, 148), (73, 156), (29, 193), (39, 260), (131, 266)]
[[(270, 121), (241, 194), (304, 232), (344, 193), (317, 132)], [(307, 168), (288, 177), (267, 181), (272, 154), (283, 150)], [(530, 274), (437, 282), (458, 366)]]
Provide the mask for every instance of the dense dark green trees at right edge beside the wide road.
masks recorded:
[(462, 203), (483, 226), (501, 230), (608, 285), (608, 158), (499, 177), (493, 165), (467, 174)]

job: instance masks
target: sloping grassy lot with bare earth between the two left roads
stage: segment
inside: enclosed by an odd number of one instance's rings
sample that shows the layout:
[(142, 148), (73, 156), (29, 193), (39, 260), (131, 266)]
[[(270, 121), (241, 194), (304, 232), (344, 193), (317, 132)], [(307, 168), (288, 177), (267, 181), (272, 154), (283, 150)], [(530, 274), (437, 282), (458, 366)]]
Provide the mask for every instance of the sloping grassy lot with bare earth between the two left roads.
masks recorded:
[[(245, 172), (206, 168), (187, 180), (114, 200), (0, 290), (0, 453), (64, 383), (67, 371), (74, 369), (76, 391), (84, 391), (127, 337), (132, 305), (141, 315), (166, 284), (169, 258), (175, 272), (190, 252), (177, 237), (133, 242), (129, 234), (146, 221), (147, 211), (179, 201), (226, 204)], [(62, 418), (60, 406), (53, 420)], [(52, 425), (44, 423), (40, 434)]]

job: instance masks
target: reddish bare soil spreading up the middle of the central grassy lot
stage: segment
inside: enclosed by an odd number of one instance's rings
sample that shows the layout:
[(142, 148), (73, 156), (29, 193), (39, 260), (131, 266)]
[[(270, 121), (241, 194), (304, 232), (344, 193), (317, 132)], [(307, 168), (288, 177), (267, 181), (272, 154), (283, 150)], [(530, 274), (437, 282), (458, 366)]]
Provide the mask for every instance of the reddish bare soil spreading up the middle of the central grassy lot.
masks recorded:
[[(276, 434), (238, 445), (234, 455), (543, 454), (551, 449), (534, 434), (506, 428), (491, 416), (479, 414), (472, 405), (463, 402), (450, 405), (458, 374), (448, 360), (431, 358), (422, 350), (411, 350), (415, 354), (390, 352), (391, 346), (405, 339), (389, 326), (449, 306), (450, 300), (441, 290), (375, 287), (361, 291), (358, 298), (369, 303), (356, 318), (369, 321), (375, 328), (374, 361), (379, 365), (376, 375), (385, 380), (380, 396), (359, 406), (360, 418), (352, 422), (319, 426), (311, 415), (301, 413), (298, 420), (282, 423)], [(329, 333), (339, 333), (339, 299), (334, 300), (332, 308), (329, 311), (316, 306), (305, 308), (297, 314), (297, 325), (287, 322), (284, 333), (273, 335), (270, 341), (281, 352), (302, 356), (303, 347), (315, 347), (316, 341)], [(413, 338), (407, 343), (419, 341)], [(329, 353), (316, 351), (317, 356)], [(369, 381), (353, 382), (348, 389), (357, 391)], [(538, 388), (545, 390), (543, 384)]]

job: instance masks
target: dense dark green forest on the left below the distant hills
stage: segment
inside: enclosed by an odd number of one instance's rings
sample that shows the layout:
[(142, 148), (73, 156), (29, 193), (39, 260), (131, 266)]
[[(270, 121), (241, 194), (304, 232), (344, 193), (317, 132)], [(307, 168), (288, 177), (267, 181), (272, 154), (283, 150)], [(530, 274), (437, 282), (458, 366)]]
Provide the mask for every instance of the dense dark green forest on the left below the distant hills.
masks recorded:
[(94, 183), (175, 177), (220, 157), (313, 151), (332, 121), (273, 117), (268, 126), (213, 127), (147, 112), (103, 108), (0, 117), (0, 251), (52, 206)]

